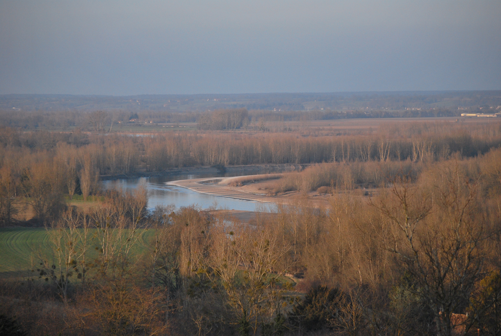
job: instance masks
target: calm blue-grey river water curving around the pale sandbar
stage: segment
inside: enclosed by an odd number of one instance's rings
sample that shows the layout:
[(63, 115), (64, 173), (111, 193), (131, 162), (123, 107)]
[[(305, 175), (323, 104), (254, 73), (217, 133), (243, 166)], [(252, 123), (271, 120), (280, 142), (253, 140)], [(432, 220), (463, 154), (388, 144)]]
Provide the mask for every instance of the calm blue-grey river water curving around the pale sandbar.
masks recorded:
[[(253, 174), (259, 174), (253, 173)], [(176, 180), (186, 180), (193, 178), (210, 178), (210, 177), (229, 177), (240, 176), (238, 173), (230, 174), (190, 174), (190, 175), (173, 175), (161, 177), (141, 177), (130, 178), (122, 180), (109, 180), (103, 181), (103, 189), (117, 189), (123, 191), (134, 191), (140, 184), (144, 184), (148, 190), (149, 200), (148, 208), (154, 208), (156, 205), (173, 204), (176, 208), (189, 205), (197, 205), (202, 209), (215, 207), (228, 210), (243, 210), (243, 211), (269, 211), (273, 203), (262, 203), (255, 201), (245, 201), (239, 199), (232, 199), (228, 197), (220, 197), (213, 195), (200, 194), (198, 192), (177, 187), (173, 185), (166, 185), (166, 182)]]

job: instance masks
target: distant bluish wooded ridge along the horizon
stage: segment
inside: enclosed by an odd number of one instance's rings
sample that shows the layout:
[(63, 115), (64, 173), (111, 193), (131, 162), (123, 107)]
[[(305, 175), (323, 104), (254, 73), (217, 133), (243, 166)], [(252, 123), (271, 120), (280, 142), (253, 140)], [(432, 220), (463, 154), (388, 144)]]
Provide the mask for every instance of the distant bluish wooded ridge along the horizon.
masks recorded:
[(166, 111), (217, 109), (346, 111), (416, 109), (501, 110), (501, 91), (394, 91), (195, 95), (0, 95), (4, 111)]

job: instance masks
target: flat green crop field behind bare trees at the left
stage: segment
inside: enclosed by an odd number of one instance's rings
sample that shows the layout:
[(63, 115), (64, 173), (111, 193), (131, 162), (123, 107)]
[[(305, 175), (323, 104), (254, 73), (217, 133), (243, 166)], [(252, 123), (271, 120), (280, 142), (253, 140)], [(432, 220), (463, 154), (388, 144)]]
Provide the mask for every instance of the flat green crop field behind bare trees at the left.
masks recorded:
[[(92, 234), (92, 233), (91, 233)], [(142, 229), (134, 248), (136, 255), (146, 250), (153, 234), (152, 230)], [(0, 229), (0, 277), (22, 276), (33, 264), (38, 264), (39, 252), (50, 258), (53, 250), (49, 234), (45, 228), (1, 228)], [(88, 257), (97, 252), (89, 248)]]

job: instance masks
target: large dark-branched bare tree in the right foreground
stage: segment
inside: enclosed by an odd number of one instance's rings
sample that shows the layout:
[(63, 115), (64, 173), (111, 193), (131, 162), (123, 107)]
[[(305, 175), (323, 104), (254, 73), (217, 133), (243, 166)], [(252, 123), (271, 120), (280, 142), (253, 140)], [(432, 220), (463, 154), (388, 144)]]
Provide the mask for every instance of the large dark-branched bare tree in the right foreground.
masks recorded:
[(455, 327), (452, 314), (468, 301), (482, 274), (484, 228), (476, 185), (465, 180), (457, 165), (442, 169), (428, 194), (396, 180), (391, 200), (373, 204), (394, 225), (390, 249), (415, 281), (415, 293), (433, 311), (437, 333), (449, 336)]

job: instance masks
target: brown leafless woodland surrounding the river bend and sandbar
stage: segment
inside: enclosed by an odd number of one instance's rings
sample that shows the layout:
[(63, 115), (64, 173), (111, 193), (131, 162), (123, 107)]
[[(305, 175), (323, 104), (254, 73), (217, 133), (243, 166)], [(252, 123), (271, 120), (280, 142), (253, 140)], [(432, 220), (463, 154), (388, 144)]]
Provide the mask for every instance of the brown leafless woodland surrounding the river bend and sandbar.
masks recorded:
[[(104, 175), (249, 164), (310, 165), (270, 182), (296, 203), (242, 224), (99, 188)], [(76, 194), (98, 197), (68, 206)], [(53, 246), (0, 282), (12, 334), (501, 334), (499, 123), (317, 137), (3, 127), (0, 201), (3, 226), (44, 226)]]

